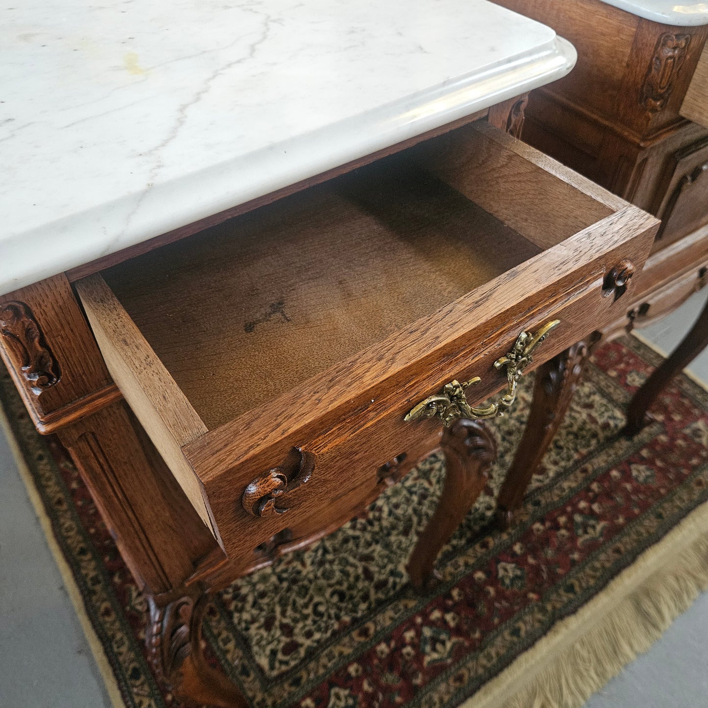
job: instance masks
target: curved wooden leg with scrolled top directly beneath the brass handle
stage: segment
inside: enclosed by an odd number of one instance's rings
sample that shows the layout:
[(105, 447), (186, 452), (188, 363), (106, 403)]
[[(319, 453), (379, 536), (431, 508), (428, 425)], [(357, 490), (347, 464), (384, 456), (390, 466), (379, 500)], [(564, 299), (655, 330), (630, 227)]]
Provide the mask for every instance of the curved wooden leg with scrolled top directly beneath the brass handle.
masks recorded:
[(411, 584), (426, 588), (435, 578), (435, 559), (486, 484), (496, 458), (496, 440), (481, 421), (462, 418), (442, 433), (445, 485), (433, 518), (418, 538), (408, 562)]

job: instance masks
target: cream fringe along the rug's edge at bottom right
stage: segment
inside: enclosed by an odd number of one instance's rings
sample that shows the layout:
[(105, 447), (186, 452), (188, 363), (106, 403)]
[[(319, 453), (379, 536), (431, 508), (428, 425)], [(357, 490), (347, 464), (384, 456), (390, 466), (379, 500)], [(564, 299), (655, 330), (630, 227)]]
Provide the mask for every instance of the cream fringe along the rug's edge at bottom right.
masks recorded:
[(708, 589), (708, 503), (463, 708), (580, 708)]

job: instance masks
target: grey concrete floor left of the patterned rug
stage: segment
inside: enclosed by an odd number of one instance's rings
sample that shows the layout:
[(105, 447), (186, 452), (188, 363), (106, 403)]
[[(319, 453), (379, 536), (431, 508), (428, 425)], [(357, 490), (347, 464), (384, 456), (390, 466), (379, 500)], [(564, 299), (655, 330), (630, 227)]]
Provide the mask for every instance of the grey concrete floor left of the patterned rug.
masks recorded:
[(110, 701), (0, 433), (0, 707), (108, 708)]

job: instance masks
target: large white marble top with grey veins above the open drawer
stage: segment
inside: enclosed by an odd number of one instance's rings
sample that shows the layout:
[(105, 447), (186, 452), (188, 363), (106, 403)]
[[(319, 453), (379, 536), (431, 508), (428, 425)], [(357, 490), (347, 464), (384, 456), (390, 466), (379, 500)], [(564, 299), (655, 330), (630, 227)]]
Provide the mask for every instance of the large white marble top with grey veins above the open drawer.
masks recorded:
[(8, 0), (0, 293), (569, 72), (486, 0)]

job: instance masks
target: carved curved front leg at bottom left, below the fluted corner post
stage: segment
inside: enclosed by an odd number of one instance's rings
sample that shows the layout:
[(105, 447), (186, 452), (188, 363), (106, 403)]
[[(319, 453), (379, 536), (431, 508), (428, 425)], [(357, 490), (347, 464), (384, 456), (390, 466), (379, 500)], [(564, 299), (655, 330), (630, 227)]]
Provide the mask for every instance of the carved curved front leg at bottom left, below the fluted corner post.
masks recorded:
[(148, 596), (149, 626), (145, 643), (150, 662), (180, 699), (219, 708), (246, 708), (248, 703), (222, 673), (207, 665), (200, 646), (207, 595), (198, 588)]

